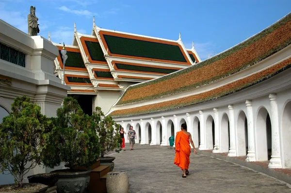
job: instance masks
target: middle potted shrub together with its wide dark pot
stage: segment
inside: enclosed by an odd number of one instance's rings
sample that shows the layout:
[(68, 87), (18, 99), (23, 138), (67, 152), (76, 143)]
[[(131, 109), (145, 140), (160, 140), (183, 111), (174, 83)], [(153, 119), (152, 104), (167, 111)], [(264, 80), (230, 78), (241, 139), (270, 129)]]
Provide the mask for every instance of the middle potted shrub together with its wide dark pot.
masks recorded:
[(89, 184), (91, 170), (75, 169), (75, 166), (89, 167), (99, 156), (95, 124), (91, 117), (83, 113), (77, 100), (66, 97), (62, 108), (57, 110), (55, 125), (54, 137), (44, 148), (43, 163), (53, 168), (65, 162), (69, 168), (51, 172), (59, 174), (59, 193), (83, 193)]

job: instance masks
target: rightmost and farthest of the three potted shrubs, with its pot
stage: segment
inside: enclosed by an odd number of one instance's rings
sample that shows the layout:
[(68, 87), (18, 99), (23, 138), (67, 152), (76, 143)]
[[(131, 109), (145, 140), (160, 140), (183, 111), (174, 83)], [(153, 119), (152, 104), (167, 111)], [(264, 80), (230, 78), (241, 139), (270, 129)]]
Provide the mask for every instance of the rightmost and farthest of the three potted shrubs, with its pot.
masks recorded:
[(122, 140), (118, 133), (119, 125), (114, 122), (111, 116), (104, 116), (100, 107), (95, 108), (95, 111), (92, 113), (92, 119), (99, 137), (101, 150), (100, 164), (109, 165), (110, 171), (112, 171), (115, 157), (105, 157), (105, 154), (114, 149), (117, 153), (121, 150)]

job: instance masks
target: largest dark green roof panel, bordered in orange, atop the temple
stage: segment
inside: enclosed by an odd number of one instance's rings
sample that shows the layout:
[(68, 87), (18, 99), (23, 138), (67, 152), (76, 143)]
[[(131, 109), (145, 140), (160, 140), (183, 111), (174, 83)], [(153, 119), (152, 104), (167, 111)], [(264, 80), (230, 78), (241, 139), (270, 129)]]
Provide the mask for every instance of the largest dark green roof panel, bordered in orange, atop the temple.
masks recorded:
[(113, 54), (187, 62), (178, 45), (148, 42), (105, 34), (103, 36), (110, 52)]

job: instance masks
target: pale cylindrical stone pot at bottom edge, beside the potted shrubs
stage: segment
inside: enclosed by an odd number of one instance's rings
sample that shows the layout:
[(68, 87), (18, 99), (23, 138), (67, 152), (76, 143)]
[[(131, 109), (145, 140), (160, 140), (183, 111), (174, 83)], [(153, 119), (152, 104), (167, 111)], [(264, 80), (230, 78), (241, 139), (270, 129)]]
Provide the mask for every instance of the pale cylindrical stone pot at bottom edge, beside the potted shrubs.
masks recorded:
[(129, 177), (126, 172), (109, 172), (106, 178), (107, 193), (128, 193)]

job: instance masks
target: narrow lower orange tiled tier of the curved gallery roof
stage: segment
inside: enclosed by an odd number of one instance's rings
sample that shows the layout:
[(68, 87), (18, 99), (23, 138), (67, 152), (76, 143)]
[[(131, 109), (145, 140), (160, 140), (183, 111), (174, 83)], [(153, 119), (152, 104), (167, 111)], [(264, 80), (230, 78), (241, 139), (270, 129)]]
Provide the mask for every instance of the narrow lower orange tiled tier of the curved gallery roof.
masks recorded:
[(198, 104), (198, 103), (202, 103), (202, 102), (206, 102), (210, 100), (215, 100), (217, 98), (241, 91), (242, 89), (248, 88), (263, 80), (267, 80), (290, 67), (291, 67), (291, 58), (285, 61), (282, 61), (279, 64), (275, 64), (249, 77), (246, 77), (241, 80), (236, 80), (234, 82), (228, 83), (224, 86), (215, 88), (213, 90), (210, 90), (204, 93), (200, 93), (193, 96), (186, 96), (186, 97), (178, 98), (175, 100), (139, 106), (136, 108), (116, 110), (116, 111), (113, 111), (110, 115), (112, 115), (113, 117), (139, 115), (139, 114), (145, 114), (145, 113), (171, 110), (171, 109), (181, 108), (181, 107), (194, 105), (194, 104)]

